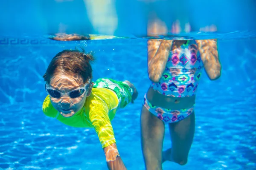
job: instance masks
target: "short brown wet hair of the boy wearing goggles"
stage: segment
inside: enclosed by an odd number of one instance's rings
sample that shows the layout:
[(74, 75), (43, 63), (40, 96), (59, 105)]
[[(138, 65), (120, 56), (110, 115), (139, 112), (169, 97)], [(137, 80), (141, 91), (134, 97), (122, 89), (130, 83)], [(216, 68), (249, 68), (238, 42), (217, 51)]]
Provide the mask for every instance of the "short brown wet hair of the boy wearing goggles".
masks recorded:
[(92, 54), (86, 54), (83, 48), (81, 49), (82, 51), (77, 48), (76, 50), (63, 50), (56, 54), (43, 76), (44, 81), (49, 83), (52, 75), (58, 71), (79, 74), (84, 83), (87, 79), (91, 79), (93, 71), (90, 62), (94, 60), (94, 57)]

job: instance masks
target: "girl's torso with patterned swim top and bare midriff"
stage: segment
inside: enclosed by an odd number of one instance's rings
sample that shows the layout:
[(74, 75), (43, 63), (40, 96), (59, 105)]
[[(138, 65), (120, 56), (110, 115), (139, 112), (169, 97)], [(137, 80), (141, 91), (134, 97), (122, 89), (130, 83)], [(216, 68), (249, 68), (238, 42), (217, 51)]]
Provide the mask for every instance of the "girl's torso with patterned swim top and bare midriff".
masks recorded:
[[(173, 45), (160, 81), (151, 83), (147, 99), (154, 105), (182, 109), (195, 103), (204, 65), (195, 40), (183, 42), (177, 48)], [(175, 43), (177, 41), (173, 42)]]

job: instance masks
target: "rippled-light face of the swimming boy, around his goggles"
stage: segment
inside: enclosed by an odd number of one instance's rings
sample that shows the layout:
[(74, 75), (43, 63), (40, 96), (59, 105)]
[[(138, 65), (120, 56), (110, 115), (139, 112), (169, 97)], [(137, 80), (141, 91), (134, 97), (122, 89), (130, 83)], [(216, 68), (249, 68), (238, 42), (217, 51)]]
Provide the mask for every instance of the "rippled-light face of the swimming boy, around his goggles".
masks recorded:
[[(49, 82), (49, 87), (54, 88), (62, 93), (67, 93), (77, 88), (84, 87), (84, 82), (81, 76), (77, 74), (58, 73), (53, 75)], [(87, 91), (77, 98), (70, 98), (68, 95), (60, 98), (50, 97), (52, 106), (61, 113), (64, 117), (71, 117), (78, 112), (86, 101), (86, 97), (90, 96), (92, 88), (87, 88)]]

